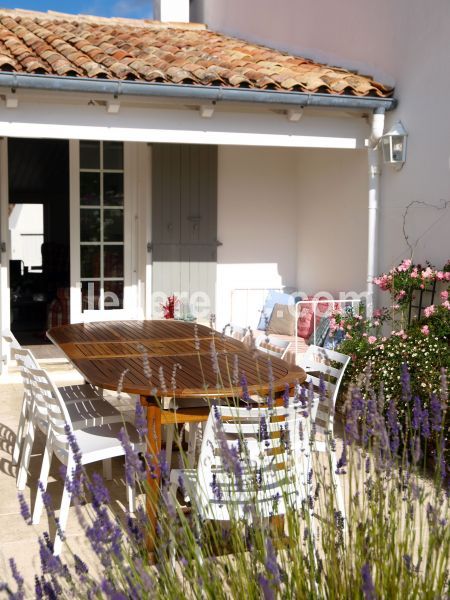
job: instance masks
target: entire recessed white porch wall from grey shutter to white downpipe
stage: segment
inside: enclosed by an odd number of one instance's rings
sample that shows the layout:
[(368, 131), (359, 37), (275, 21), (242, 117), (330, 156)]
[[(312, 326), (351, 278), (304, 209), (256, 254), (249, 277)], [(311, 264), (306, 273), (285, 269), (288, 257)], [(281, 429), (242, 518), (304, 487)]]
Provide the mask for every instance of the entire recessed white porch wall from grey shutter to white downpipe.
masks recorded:
[(236, 289), (365, 291), (364, 150), (221, 146), (218, 187), (219, 326), (258, 319), (265, 293)]

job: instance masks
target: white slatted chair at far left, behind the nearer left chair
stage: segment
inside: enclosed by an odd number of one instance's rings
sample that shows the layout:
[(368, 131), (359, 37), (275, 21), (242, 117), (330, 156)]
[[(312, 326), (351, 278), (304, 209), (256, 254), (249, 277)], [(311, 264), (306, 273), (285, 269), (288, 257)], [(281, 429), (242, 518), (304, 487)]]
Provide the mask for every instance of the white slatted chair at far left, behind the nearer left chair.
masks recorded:
[[(29, 350), (15, 348), (14, 357), (20, 367), (24, 386), (19, 426), (13, 449), (13, 463), (20, 463), (17, 469), (17, 487), (23, 490), (27, 483), (31, 451), (36, 428), (44, 435), (48, 430), (48, 415), (45, 403), (34, 398), (29, 378), (29, 369), (39, 369), (36, 359)], [(107, 423), (122, 423), (123, 416), (89, 384), (63, 386), (58, 388), (76, 429)], [(111, 478), (111, 463), (104, 464), (104, 476)]]

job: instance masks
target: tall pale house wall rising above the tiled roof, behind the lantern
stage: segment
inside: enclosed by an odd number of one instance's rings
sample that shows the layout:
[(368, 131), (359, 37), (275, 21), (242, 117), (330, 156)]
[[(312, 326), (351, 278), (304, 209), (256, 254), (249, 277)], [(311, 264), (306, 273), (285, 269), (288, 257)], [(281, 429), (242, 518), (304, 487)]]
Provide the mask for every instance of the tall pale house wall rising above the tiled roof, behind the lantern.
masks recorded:
[[(387, 114), (386, 130), (402, 120), (408, 156), (400, 172), (383, 167), (380, 269), (408, 256), (402, 235), (407, 205), (450, 200), (448, 0), (203, 0), (194, 14), (211, 29), (395, 84), (399, 106)], [(333, 185), (331, 175), (328, 183)], [(450, 206), (437, 211), (414, 205), (407, 230), (414, 244), (420, 238), (415, 260), (441, 266), (449, 257)]]

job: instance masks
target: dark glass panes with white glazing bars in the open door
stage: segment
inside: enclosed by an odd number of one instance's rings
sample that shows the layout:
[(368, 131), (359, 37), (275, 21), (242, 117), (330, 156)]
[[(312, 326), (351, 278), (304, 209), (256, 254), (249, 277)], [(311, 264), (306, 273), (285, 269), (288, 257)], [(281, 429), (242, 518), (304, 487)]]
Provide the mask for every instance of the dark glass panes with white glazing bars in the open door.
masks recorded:
[(81, 310), (124, 305), (124, 147), (80, 141)]

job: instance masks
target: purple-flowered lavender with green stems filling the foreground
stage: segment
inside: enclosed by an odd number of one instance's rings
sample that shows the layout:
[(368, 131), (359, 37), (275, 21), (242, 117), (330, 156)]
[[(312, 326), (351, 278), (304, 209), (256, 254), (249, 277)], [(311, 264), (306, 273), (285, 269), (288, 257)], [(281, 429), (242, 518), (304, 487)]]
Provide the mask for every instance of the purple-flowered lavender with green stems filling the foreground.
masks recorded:
[[(232, 369), (235, 362), (232, 361)], [(108, 489), (99, 475), (90, 475), (77, 460), (71, 485), (77, 514), (98, 564), (77, 556), (66, 543), (64, 559), (55, 558), (48, 535), (40, 538), (42, 572), (36, 577), (36, 598), (445, 598), (450, 593), (449, 478), (445, 462), (445, 419), (448, 405), (446, 372), (439, 390), (426, 402), (411, 392), (410, 374), (399, 374), (401, 391), (389, 399), (384, 412), (383, 390), (374, 391), (372, 372), (365, 371), (360, 387), (352, 387), (346, 400), (343, 440), (325, 430), (320, 440), (310, 411), (314, 401), (326, 402), (321, 384), (320, 399), (312, 388), (285, 390), (279, 403), (299, 416), (295, 432), (304, 449), (292, 443), (294, 432), (282, 429), (281, 446), (293, 463), (302, 459), (303, 477), (298, 481), (303, 501), (298, 505), (291, 490), (273, 498), (273, 516), (265, 516), (248, 503), (245, 518), (230, 510), (227, 522), (207, 521), (202, 507), (190, 496), (190, 506), (178, 503), (170, 490), (170, 469), (164, 453), (161, 470), (159, 520), (154, 561), (149, 560), (146, 539), (152, 528), (145, 506), (124, 518), (110, 507)], [(237, 379), (237, 374), (233, 374)], [(242, 390), (248, 390), (241, 374)], [(277, 401), (275, 401), (277, 404)], [(406, 406), (408, 418), (400, 419)], [(137, 408), (145, 435), (145, 420)], [(237, 441), (225, 434), (220, 411), (217, 448), (224, 473), (211, 478), (212, 491), (223, 501), (224, 488), (231, 497), (243, 489), (256, 494), (267, 473), (255, 469), (245, 436)], [(258, 425), (262, 447), (270, 444), (269, 418)], [(68, 432), (74, 456), (79, 457), (76, 438)], [(316, 442), (325, 452), (317, 457)], [(426, 447), (437, 449), (434, 471), (424, 464)], [(134, 455), (123, 435), (127, 477), (137, 478), (142, 491), (142, 457)], [(182, 448), (181, 441), (178, 445)], [(299, 457), (295, 452), (303, 452)], [(147, 459), (148, 461), (148, 459)], [(253, 471), (251, 471), (253, 469)], [(249, 473), (251, 472), (251, 477)], [(280, 470), (282, 483), (283, 472)], [(336, 487), (337, 478), (339, 487)], [(152, 477), (152, 473), (149, 474)], [(225, 483), (224, 483), (225, 482)], [(249, 483), (251, 482), (251, 484)], [(183, 482), (180, 482), (183, 484)], [(222, 486), (222, 487), (221, 487)], [(247, 486), (243, 488), (243, 486)], [(252, 487), (253, 486), (253, 487)], [(345, 509), (339, 502), (343, 491)], [(185, 495), (181, 485), (181, 496)], [(286, 504), (282, 518), (277, 502)], [(83, 506), (87, 502), (86, 506)], [(30, 522), (30, 510), (20, 497), (22, 515)], [(51, 502), (49, 518), (55, 519)], [(97, 567), (97, 568), (96, 568)], [(15, 588), (2, 590), (11, 598), (31, 597), (14, 561)]]

